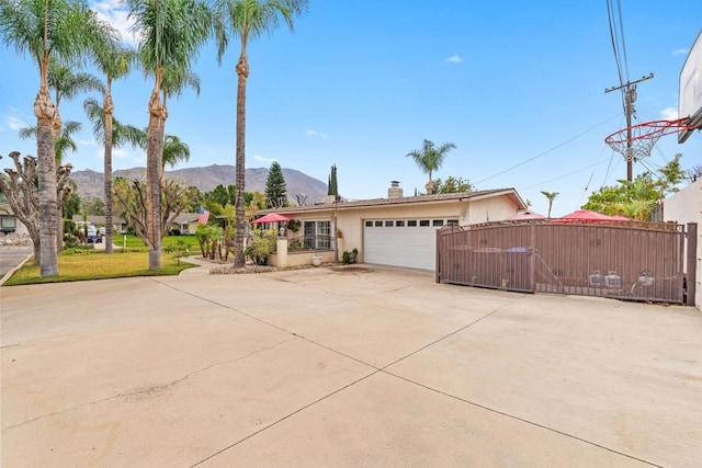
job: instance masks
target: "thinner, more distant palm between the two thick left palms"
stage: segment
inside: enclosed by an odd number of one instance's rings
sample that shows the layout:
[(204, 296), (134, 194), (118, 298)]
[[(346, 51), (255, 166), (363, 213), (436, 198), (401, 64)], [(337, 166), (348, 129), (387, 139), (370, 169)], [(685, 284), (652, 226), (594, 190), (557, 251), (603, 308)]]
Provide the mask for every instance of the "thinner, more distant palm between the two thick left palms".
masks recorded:
[(105, 44), (95, 52), (94, 64), (105, 77), (102, 107), (95, 100), (83, 102), (83, 109), (93, 123), (93, 134), (102, 142), (104, 149), (104, 197), (105, 197), (105, 253), (112, 253), (113, 236), (113, 198), (112, 198), (112, 148), (120, 146), (124, 140), (135, 145), (135, 138), (131, 128), (115, 135), (114, 132), (114, 103), (112, 101), (112, 81), (127, 76), (132, 69), (136, 55), (134, 50), (116, 44)]

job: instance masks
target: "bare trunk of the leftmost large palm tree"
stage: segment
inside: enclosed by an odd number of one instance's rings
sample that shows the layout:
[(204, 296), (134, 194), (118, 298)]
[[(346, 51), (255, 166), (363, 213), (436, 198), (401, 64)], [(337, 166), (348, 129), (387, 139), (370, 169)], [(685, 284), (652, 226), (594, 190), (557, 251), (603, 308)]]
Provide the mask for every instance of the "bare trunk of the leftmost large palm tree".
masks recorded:
[[(58, 251), (56, 248), (56, 150), (54, 148), (54, 123), (57, 110), (52, 103), (48, 88), (42, 87), (34, 102), (36, 115), (36, 153), (39, 197), (39, 276), (58, 276)], [(59, 121), (60, 122), (60, 121)]]

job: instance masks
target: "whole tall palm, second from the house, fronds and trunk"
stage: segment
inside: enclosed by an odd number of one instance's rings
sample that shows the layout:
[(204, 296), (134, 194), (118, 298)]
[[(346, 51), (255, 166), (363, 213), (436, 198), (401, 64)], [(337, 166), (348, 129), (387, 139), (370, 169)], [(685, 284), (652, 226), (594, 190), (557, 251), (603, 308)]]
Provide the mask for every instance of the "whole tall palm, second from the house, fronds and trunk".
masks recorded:
[(154, 77), (148, 104), (145, 238), (149, 247), (149, 270), (160, 270), (163, 127), (168, 118), (161, 100), (163, 77), (190, 69), (212, 31), (212, 14), (197, 0), (127, 0), (127, 4), (140, 37), (139, 60), (146, 72)]

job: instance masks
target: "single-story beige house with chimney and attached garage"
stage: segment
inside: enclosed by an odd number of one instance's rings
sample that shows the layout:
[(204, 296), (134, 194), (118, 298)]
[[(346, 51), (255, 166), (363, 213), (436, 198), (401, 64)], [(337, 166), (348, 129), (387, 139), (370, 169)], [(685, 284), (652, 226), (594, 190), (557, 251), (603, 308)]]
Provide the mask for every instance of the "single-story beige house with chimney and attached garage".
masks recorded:
[[(360, 262), (434, 270), (437, 229), (450, 222), (465, 226), (498, 221), (525, 208), (514, 189), (406, 197), (398, 183), (393, 182), (387, 198), (329, 201), (263, 213), (279, 213), (301, 221), (297, 232), (288, 230), (290, 239), (341, 231), (339, 259), (344, 250), (355, 248)], [(319, 242), (329, 243), (324, 237)]]

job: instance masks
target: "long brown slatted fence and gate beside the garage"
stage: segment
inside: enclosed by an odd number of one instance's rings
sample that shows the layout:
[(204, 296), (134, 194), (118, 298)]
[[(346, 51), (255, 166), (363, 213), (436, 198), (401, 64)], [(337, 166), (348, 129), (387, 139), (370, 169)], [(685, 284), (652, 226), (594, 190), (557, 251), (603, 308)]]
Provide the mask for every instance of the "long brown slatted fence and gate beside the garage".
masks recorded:
[(693, 305), (695, 252), (697, 224), (449, 225), (437, 282)]

